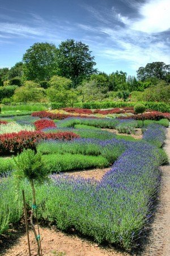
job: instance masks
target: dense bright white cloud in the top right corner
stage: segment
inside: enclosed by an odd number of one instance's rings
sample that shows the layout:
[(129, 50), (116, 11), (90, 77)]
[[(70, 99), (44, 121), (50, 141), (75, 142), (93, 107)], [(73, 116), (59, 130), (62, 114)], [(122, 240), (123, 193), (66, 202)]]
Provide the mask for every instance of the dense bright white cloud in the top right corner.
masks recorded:
[(139, 8), (142, 19), (135, 21), (133, 30), (158, 33), (170, 28), (170, 1), (150, 0)]

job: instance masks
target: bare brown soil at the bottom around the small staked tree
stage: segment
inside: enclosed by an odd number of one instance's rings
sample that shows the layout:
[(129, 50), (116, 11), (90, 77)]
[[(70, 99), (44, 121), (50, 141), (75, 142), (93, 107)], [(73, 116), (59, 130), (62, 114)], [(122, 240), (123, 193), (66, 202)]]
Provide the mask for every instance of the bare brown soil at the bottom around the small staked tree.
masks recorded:
[[(113, 249), (99, 247), (96, 243), (88, 242), (77, 236), (71, 236), (55, 229), (41, 228), (41, 246), (43, 256), (125, 256)], [(30, 232), (31, 256), (36, 256), (37, 247), (33, 233)], [(24, 235), (16, 241), (10, 249), (1, 256), (29, 256), (27, 236)]]

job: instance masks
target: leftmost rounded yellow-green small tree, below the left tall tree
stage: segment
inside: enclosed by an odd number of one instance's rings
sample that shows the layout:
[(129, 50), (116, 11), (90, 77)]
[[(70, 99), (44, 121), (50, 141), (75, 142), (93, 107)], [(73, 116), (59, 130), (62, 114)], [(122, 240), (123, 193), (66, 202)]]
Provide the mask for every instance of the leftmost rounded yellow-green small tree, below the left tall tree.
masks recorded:
[(14, 93), (15, 102), (42, 102), (45, 101), (45, 90), (33, 81), (25, 81)]

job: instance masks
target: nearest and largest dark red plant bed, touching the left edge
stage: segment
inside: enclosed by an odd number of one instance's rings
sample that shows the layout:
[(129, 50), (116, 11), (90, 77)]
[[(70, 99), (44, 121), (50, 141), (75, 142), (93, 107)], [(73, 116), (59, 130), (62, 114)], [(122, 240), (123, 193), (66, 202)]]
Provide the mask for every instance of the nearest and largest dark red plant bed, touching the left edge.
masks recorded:
[(44, 133), (42, 131), (20, 131), (19, 133), (6, 133), (0, 135), (0, 154), (22, 152), (24, 148), (36, 150), (36, 143), (42, 139), (59, 139), (71, 141), (79, 138), (72, 132)]

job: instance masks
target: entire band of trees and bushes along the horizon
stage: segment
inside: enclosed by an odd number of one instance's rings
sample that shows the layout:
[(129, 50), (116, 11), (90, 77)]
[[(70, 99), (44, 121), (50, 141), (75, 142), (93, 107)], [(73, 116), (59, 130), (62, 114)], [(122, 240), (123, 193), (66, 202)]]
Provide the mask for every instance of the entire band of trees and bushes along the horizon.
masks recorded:
[(94, 56), (86, 44), (68, 39), (58, 48), (54, 44), (35, 43), (23, 60), (11, 69), (0, 69), (0, 101), (74, 102), (146, 100), (169, 102), (170, 65), (148, 63), (137, 77), (126, 72), (111, 74), (95, 69)]

